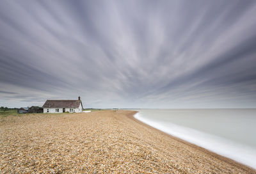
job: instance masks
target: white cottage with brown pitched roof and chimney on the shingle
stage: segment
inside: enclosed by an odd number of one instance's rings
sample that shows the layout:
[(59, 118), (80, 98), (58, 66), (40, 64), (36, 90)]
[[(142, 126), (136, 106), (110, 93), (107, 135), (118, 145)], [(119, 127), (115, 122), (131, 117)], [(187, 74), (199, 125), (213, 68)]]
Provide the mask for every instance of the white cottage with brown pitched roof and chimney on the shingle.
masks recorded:
[(83, 104), (78, 97), (78, 100), (46, 100), (44, 113), (81, 113)]

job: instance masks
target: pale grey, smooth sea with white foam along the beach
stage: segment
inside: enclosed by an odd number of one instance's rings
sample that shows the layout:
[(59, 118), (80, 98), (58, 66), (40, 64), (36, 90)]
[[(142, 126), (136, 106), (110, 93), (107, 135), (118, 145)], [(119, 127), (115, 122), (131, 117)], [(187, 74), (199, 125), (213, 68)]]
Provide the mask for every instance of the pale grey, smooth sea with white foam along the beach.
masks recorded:
[(137, 109), (141, 122), (256, 169), (256, 109)]

